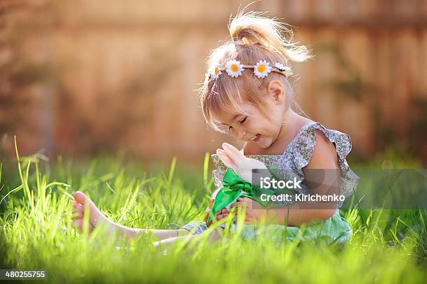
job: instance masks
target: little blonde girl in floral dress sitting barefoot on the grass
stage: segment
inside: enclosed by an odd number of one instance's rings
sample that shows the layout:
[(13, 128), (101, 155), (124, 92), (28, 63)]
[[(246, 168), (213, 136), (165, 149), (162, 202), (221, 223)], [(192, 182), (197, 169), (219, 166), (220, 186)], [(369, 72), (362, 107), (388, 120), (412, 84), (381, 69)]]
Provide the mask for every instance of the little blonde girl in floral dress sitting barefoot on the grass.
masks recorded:
[[(350, 137), (302, 117), (291, 107), (297, 103), (288, 81), (292, 75), (290, 61), (310, 58), (306, 47), (292, 43), (292, 31), (284, 24), (260, 13), (242, 11), (229, 28), (232, 40), (213, 50), (208, 58), (208, 72), (200, 89), (204, 119), (213, 129), (243, 140), (244, 155), (276, 165), (279, 172), (291, 172), (304, 179), (310, 169), (336, 169), (340, 173), (340, 193), (350, 195), (358, 179), (345, 160), (351, 150)], [(286, 34), (290, 38), (285, 38)], [(213, 155), (213, 161), (217, 167), (213, 181), (220, 188), (226, 166), (218, 155)], [(306, 186), (299, 191), (308, 193)], [(82, 226), (85, 202), (89, 202), (91, 225), (105, 223), (108, 230), (128, 237), (151, 232), (158, 237), (157, 244), (195, 237), (211, 225), (195, 221), (179, 230), (132, 229), (107, 219), (84, 193), (77, 192), (73, 201), (77, 227)], [(328, 209), (320, 209), (313, 201), (290, 203), (275, 209), (255, 209), (253, 200), (239, 198), (232, 207), (246, 208), (241, 236), (256, 239), (257, 234), (267, 232), (272, 237), (294, 239), (299, 235), (329, 243), (345, 242), (351, 236), (350, 226), (338, 213), (342, 202)], [(227, 209), (218, 211), (216, 220), (229, 213)], [(300, 230), (303, 224), (306, 227)], [(236, 230), (236, 225), (231, 229)], [(211, 231), (210, 239), (219, 239), (220, 230)]]

